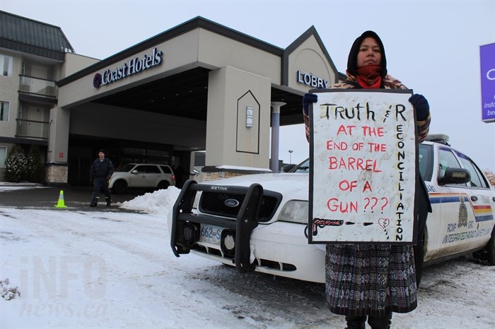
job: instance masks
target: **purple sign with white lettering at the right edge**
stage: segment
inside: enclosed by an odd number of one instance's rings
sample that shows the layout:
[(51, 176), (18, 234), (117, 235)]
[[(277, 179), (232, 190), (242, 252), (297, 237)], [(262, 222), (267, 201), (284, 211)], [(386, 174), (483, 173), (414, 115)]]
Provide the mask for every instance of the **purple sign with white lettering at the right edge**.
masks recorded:
[(479, 47), (482, 76), (482, 121), (495, 122), (495, 43)]

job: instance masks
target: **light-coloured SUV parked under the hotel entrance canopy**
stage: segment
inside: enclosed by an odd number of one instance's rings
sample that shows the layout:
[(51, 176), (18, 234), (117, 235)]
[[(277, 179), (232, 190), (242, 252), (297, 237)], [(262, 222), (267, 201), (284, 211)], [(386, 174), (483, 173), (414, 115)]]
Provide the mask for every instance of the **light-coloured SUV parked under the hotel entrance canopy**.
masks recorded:
[(175, 174), (166, 164), (129, 163), (118, 169), (110, 178), (108, 188), (113, 193), (127, 189), (168, 189), (175, 185)]

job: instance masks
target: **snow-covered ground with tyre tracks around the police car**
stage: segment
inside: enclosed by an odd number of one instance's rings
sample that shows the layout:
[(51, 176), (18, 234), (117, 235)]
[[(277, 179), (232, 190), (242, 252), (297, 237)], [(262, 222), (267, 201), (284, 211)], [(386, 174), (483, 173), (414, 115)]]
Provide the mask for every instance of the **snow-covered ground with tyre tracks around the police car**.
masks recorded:
[[(120, 204), (139, 213), (0, 208), (0, 328), (344, 328), (324, 285), (176, 258), (179, 191)], [(392, 328), (495, 328), (494, 279), (468, 258), (429, 266)]]

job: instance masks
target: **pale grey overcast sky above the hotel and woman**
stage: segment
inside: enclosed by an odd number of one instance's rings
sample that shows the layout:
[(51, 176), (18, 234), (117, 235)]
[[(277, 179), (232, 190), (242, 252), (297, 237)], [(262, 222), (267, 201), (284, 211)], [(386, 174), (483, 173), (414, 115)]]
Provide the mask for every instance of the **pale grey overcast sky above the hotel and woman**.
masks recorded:
[[(481, 119), (479, 69), (479, 46), (495, 42), (495, 0), (1, 0), (0, 9), (59, 26), (76, 53), (97, 59), (202, 16), (281, 48), (314, 25), (345, 72), (352, 42), (374, 30), (385, 45), (388, 72), (429, 100), (430, 132), (447, 134), (453, 147), (495, 172), (495, 123)], [(289, 150), (292, 162), (308, 156), (303, 126), (281, 132), (285, 162)]]

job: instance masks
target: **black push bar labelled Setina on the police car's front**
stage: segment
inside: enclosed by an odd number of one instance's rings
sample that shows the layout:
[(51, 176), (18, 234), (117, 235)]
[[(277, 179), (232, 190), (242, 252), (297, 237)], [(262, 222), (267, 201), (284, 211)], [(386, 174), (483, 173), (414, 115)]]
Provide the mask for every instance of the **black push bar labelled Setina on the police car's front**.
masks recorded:
[[(245, 195), (244, 201), (235, 219), (215, 217), (192, 213), (194, 198), (199, 191), (209, 193), (239, 193)], [(170, 246), (175, 256), (189, 253), (197, 248), (201, 225), (223, 227), (220, 246), (223, 253), (233, 256), (233, 263), (240, 273), (253, 272), (255, 263), (250, 262), (251, 232), (258, 226), (258, 215), (263, 198), (263, 187), (260, 184), (245, 186), (219, 186), (197, 184), (190, 179), (182, 186), (177, 201), (173, 206)]]

